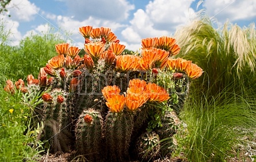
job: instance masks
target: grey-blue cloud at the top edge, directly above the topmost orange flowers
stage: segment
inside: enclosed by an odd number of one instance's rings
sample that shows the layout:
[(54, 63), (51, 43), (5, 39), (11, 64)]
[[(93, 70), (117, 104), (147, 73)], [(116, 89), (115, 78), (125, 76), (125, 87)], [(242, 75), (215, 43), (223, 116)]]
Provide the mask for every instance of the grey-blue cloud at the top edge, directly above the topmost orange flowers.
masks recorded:
[(127, 0), (66, 0), (68, 11), (75, 19), (83, 21), (91, 17), (112, 21), (127, 19), (129, 11), (135, 9)]

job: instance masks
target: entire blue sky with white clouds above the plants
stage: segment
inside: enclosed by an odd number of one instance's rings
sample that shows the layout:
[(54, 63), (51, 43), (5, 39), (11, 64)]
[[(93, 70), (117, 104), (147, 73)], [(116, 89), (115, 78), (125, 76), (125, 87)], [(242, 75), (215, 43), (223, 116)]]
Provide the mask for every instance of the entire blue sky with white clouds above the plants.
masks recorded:
[[(13, 45), (30, 35), (54, 28), (70, 44), (83, 48), (81, 26), (106, 26), (127, 49), (140, 48), (147, 37), (171, 36), (189, 25), (200, 9), (217, 20), (221, 27), (227, 19), (239, 26), (256, 21), (255, 0), (12, 0), (6, 14), (0, 15)], [(7, 15), (12, 15), (8, 17)], [(66, 33), (70, 33), (67, 37)]]

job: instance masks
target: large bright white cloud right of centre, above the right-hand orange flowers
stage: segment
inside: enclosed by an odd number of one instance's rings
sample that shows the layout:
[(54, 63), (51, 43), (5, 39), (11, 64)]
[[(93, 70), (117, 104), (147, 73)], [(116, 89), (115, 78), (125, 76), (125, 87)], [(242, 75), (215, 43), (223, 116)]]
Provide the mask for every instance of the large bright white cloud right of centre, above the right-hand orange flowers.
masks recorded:
[[(190, 8), (194, 0), (154, 0), (133, 15), (130, 26), (122, 31), (125, 41), (135, 47), (142, 38), (170, 36), (178, 26), (184, 25), (196, 14)], [(137, 40), (139, 39), (139, 40)], [(128, 45), (128, 46), (129, 46)], [(136, 45), (137, 46), (137, 45)], [(136, 49), (130, 49), (136, 50)]]

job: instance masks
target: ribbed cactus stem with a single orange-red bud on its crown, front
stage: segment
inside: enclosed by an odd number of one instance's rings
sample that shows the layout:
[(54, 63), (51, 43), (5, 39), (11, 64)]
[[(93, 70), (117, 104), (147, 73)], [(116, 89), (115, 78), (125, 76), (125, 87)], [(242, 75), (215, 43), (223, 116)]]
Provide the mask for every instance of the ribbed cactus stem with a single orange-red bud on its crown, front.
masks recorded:
[(83, 110), (75, 127), (77, 151), (90, 161), (102, 160), (103, 121), (100, 112), (94, 109)]

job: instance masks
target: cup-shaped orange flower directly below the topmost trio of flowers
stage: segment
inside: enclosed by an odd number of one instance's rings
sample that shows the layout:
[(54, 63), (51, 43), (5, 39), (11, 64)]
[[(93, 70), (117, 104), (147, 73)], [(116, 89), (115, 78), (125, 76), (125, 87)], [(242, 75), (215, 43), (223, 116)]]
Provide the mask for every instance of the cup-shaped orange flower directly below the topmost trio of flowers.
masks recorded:
[(105, 50), (105, 45), (102, 42), (93, 42), (85, 44), (85, 52), (89, 54), (91, 58), (100, 58), (101, 54)]

